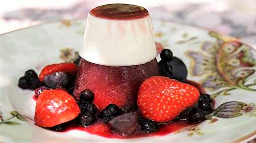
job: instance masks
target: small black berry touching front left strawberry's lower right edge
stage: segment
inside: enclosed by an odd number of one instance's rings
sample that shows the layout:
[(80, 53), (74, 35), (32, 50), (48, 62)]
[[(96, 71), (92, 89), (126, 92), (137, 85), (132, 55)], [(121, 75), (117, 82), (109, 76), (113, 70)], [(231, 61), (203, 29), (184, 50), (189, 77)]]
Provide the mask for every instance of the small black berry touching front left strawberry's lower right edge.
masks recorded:
[(80, 124), (83, 127), (89, 126), (96, 121), (95, 115), (92, 112), (82, 112), (80, 117)]

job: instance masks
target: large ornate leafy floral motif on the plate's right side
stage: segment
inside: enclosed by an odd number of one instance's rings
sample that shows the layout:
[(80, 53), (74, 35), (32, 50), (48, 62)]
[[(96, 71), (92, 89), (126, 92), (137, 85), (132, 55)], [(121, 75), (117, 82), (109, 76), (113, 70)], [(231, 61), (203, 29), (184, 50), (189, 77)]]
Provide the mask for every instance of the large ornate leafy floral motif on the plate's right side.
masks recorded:
[(216, 42), (205, 41), (201, 51), (186, 52), (193, 61), (190, 75), (206, 75), (201, 84), (211, 91), (226, 88), (212, 94), (211, 97), (214, 98), (229, 95), (229, 91), (236, 89), (256, 91), (256, 88), (251, 88), (256, 85), (256, 79), (253, 83), (247, 83), (249, 77), (255, 73), (255, 69), (252, 69), (256, 66), (256, 59), (251, 53), (253, 49), (228, 36), (221, 36), (215, 32), (209, 32), (209, 35), (216, 38)]

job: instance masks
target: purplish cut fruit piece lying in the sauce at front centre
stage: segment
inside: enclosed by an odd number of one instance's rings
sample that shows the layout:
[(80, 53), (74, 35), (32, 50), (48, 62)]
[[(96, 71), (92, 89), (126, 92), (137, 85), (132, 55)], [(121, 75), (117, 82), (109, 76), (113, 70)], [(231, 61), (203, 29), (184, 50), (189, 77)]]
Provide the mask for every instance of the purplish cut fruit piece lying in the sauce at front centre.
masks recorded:
[(130, 112), (113, 118), (108, 122), (110, 129), (121, 135), (129, 135), (139, 127), (139, 112)]

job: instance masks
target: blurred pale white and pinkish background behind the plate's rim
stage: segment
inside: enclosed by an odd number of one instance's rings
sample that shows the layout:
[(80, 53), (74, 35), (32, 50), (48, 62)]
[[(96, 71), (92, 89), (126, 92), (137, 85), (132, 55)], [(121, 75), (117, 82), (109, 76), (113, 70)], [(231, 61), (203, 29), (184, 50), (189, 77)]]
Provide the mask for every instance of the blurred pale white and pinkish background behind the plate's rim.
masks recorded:
[(0, 0), (0, 34), (62, 19), (86, 18), (109, 3), (140, 5), (153, 20), (176, 21), (227, 34), (256, 48), (256, 0)]

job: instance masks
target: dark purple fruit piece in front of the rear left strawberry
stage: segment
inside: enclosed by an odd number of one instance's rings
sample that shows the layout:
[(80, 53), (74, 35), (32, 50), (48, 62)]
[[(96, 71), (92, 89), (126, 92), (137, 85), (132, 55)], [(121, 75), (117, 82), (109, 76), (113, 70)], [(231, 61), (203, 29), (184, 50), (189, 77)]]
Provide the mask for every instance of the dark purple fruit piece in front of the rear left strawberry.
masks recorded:
[(44, 82), (51, 89), (65, 87), (70, 80), (70, 75), (65, 72), (55, 72), (44, 77)]

